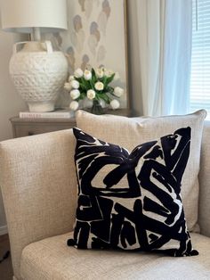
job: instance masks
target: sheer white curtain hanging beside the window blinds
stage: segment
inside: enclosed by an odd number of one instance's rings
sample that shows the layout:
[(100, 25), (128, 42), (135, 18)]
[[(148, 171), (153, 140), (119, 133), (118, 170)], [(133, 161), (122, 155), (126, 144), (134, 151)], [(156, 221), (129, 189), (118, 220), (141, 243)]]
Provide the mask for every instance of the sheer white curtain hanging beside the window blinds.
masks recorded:
[(191, 0), (135, 4), (143, 114), (185, 113), (190, 103)]

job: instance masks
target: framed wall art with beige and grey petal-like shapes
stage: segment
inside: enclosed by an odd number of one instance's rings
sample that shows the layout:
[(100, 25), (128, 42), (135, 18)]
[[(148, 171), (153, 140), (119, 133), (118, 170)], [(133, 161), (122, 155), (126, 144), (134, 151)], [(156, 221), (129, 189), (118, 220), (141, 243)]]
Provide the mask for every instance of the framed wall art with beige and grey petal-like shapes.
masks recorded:
[(68, 31), (52, 39), (67, 54), (69, 73), (100, 66), (118, 72), (113, 86), (125, 89), (120, 103), (127, 108), (126, 1), (68, 0), (68, 19)]

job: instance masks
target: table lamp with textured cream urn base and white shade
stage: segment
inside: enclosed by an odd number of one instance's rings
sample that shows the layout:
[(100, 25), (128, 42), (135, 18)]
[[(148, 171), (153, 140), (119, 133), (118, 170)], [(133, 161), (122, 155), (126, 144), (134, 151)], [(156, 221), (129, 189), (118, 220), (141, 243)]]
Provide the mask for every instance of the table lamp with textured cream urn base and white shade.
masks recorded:
[(2, 29), (28, 33), (31, 41), (13, 45), (10, 74), (29, 111), (53, 111), (68, 75), (68, 62), (42, 33), (67, 29), (66, 0), (4, 0)]

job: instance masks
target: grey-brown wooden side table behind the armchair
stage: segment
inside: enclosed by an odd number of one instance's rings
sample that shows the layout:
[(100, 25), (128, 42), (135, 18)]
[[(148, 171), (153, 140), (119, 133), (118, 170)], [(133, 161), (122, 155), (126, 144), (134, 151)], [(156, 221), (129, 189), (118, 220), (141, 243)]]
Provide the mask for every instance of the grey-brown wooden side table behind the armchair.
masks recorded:
[[(120, 115), (129, 117), (131, 111), (127, 109), (119, 109), (116, 111), (107, 111), (106, 113), (113, 115)], [(10, 119), (12, 123), (13, 137), (33, 136), (45, 132), (57, 131), (62, 129), (76, 127), (76, 119), (55, 119), (55, 118), (43, 118), (43, 119), (23, 119), (19, 117), (12, 117)]]

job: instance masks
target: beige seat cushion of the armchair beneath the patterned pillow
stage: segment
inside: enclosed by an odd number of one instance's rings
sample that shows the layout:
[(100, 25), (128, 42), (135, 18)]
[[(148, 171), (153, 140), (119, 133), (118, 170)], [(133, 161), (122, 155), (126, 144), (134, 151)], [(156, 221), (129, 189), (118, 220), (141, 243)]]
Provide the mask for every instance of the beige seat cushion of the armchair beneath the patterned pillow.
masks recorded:
[(68, 247), (73, 233), (31, 243), (22, 251), (20, 274), (37, 280), (210, 279), (210, 238), (191, 234), (198, 256), (173, 258), (127, 251), (77, 250)]

